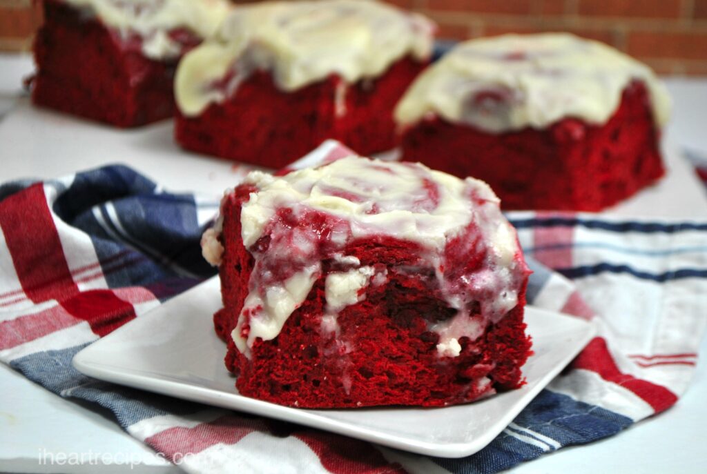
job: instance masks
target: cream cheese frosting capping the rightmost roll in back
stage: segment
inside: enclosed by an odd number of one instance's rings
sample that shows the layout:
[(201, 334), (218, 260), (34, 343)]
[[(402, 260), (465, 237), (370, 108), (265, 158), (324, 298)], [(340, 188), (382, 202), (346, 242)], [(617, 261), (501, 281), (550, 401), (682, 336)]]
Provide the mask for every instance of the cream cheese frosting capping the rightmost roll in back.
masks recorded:
[(603, 124), (633, 80), (645, 83), (655, 122), (665, 125), (665, 86), (617, 49), (567, 33), (469, 40), (416, 79), (395, 119), (407, 126), (436, 115), (491, 133), (543, 129), (565, 117)]

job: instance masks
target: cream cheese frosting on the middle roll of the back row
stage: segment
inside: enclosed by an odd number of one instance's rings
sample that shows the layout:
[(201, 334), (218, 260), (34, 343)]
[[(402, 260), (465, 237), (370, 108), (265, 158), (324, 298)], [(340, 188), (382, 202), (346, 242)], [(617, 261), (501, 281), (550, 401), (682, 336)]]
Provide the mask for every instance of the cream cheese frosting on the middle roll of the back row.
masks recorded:
[[(276, 85), (285, 91), (331, 74), (355, 83), (380, 76), (407, 55), (426, 59), (432, 47), (433, 23), (376, 1), (239, 6), (213, 40), (182, 60), (175, 97), (182, 113), (194, 116), (233, 94), (253, 71), (271, 71)], [(226, 87), (213, 87), (227, 76)]]

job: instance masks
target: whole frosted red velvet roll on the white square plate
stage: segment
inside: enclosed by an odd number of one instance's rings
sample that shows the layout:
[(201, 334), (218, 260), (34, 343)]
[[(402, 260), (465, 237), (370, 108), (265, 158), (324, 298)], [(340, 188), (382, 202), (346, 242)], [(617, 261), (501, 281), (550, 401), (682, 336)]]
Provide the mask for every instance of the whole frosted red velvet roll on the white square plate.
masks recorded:
[(356, 155), (251, 172), (201, 245), (245, 396), (443, 406), (523, 383), (530, 272), (484, 182)]

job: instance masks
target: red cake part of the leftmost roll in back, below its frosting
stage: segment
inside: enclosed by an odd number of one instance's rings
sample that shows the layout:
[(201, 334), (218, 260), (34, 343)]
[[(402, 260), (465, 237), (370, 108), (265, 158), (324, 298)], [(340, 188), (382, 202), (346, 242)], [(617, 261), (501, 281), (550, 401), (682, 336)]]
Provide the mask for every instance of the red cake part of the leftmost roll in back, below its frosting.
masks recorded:
[[(140, 37), (124, 38), (61, 0), (43, 0), (42, 6), (45, 23), (34, 42), (36, 105), (119, 127), (173, 115), (178, 58), (149, 59)], [(184, 51), (200, 42), (186, 30), (170, 36)]]

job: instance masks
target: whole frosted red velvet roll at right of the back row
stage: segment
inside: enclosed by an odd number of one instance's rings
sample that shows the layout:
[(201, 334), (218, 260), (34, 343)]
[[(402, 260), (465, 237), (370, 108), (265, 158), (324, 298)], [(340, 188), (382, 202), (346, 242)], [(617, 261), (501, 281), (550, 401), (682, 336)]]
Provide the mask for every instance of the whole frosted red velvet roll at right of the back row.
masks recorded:
[(395, 118), (404, 160), (483, 179), (504, 209), (599, 211), (662, 177), (669, 114), (645, 64), (547, 33), (457, 45)]

